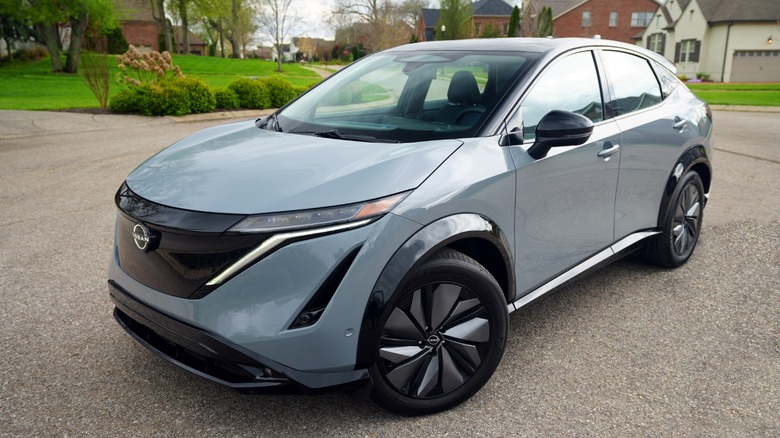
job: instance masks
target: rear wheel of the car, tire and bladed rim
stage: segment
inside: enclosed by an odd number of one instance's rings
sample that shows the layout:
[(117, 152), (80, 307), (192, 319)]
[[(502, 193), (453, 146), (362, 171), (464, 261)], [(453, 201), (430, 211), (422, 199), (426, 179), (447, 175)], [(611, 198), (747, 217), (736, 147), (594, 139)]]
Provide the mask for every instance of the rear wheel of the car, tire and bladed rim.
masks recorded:
[(663, 229), (648, 246), (648, 258), (658, 266), (676, 268), (693, 254), (704, 219), (704, 185), (696, 172), (683, 176), (664, 216)]

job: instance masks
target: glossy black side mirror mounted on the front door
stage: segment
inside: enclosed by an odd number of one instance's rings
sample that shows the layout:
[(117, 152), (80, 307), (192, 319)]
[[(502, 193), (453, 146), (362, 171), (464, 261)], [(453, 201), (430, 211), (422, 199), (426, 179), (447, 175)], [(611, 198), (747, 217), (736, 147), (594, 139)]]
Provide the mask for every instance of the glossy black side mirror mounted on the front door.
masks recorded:
[(536, 125), (536, 142), (528, 148), (528, 155), (537, 160), (544, 158), (550, 148), (581, 145), (592, 133), (593, 122), (587, 117), (569, 111), (550, 111)]

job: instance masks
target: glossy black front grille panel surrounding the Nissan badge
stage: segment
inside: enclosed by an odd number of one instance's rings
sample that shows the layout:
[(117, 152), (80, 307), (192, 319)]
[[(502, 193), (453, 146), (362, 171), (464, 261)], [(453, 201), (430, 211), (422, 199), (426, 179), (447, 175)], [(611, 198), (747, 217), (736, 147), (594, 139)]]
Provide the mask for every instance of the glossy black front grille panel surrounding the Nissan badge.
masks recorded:
[[(226, 235), (243, 216), (198, 213), (147, 201), (123, 186), (116, 244), (119, 266), (141, 284), (181, 298), (201, 298), (217, 273), (263, 242), (267, 235)], [(134, 232), (142, 223), (148, 246), (139, 248)], [(180, 226), (192, 229), (178, 229)], [(143, 246), (143, 245), (141, 245)], [(197, 292), (197, 293), (196, 293)]]

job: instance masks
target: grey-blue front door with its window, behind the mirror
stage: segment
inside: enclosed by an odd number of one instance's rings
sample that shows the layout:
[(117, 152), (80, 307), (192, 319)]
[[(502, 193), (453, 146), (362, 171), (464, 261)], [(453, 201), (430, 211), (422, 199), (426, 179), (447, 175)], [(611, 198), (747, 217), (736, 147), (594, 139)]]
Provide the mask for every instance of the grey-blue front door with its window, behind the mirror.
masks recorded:
[[(523, 130), (523, 145), (513, 147), (519, 296), (613, 243), (621, 136), (614, 120), (604, 120), (603, 96), (593, 53), (566, 55), (542, 72), (507, 124)], [(553, 147), (536, 160), (527, 150), (551, 110), (589, 118), (593, 133), (582, 145)]]

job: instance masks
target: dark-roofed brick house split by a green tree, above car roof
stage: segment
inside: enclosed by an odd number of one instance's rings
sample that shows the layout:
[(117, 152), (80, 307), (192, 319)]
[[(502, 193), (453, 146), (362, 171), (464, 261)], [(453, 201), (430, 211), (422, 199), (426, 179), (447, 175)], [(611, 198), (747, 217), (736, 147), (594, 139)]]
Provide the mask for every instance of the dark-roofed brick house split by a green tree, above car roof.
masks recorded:
[[(495, 27), (501, 35), (509, 31), (509, 18), (513, 6), (504, 0), (480, 0), (472, 3), (474, 14), (471, 17), (472, 37), (482, 36), (488, 27)], [(424, 8), (417, 15), (415, 35), (417, 41), (433, 41), (436, 39), (436, 23), (439, 21), (440, 9)]]

